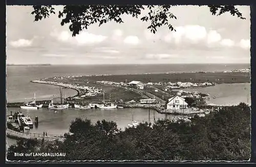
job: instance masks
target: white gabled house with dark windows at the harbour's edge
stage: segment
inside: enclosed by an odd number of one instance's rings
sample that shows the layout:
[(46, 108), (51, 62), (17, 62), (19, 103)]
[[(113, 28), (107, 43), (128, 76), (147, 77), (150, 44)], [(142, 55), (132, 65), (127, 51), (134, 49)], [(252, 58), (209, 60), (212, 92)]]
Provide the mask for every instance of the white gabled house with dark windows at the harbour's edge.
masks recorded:
[(174, 96), (166, 102), (166, 109), (179, 110), (186, 108), (188, 108), (188, 104), (185, 102), (185, 99), (180, 96)]

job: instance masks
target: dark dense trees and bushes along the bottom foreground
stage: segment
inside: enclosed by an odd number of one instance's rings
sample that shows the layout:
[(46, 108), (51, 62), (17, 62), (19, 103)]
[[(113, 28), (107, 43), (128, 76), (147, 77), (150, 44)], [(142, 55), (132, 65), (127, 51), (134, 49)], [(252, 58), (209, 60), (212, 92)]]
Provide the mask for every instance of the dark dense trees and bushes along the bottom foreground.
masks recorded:
[[(159, 120), (119, 131), (116, 123), (77, 118), (64, 142), (19, 140), (8, 160), (248, 160), (250, 107), (223, 107), (190, 123)], [(65, 152), (66, 157), (14, 157), (15, 152)]]

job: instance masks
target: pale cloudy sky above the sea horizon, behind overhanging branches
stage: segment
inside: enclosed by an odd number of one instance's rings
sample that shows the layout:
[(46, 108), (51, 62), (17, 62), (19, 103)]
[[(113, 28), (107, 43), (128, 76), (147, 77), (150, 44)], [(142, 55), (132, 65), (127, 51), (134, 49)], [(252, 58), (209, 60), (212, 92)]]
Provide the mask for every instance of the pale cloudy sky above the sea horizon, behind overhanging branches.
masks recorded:
[(250, 63), (250, 7), (236, 7), (245, 20), (213, 16), (207, 6), (175, 6), (176, 32), (153, 34), (150, 22), (123, 15), (124, 23), (91, 25), (72, 37), (57, 14), (34, 21), (32, 6), (7, 6), (7, 64)]

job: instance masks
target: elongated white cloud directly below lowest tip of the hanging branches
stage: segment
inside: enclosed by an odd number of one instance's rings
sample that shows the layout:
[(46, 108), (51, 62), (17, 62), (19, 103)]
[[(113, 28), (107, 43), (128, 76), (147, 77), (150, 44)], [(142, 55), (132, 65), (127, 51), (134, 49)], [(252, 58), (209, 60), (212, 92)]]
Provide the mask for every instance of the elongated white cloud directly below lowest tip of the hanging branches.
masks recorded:
[(75, 37), (72, 37), (71, 32), (62, 31), (58, 33), (54, 31), (50, 34), (52, 37), (57, 38), (61, 42), (70, 42), (77, 45), (95, 44), (104, 41), (107, 37), (103, 35), (95, 35), (88, 32), (80, 32)]

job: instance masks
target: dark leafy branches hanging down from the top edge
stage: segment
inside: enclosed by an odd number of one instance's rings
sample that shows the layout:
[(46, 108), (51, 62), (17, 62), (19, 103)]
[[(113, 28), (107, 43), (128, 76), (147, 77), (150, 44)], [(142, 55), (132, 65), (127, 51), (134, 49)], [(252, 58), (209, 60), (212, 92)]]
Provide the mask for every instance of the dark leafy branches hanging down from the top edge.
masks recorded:
[[(242, 13), (233, 5), (208, 5), (212, 15), (221, 15), (229, 12), (233, 16), (245, 19)], [(38, 21), (55, 14), (55, 9), (48, 6), (33, 6), (34, 11), (32, 15), (35, 16), (34, 21)], [(81, 5), (70, 6), (66, 5), (62, 11), (58, 11), (58, 17), (62, 18), (61, 26), (70, 23), (69, 29), (72, 36), (76, 36), (83, 29), (88, 29), (90, 25), (98, 24), (101, 26), (103, 23), (115, 21), (122, 23), (122, 15), (127, 14), (132, 17), (138, 18), (143, 10), (147, 10), (147, 14), (140, 17), (140, 20), (150, 22), (147, 27), (152, 33), (156, 33), (159, 27), (167, 27), (170, 31), (176, 31), (170, 23), (172, 19), (177, 17), (170, 12), (172, 5)]]

